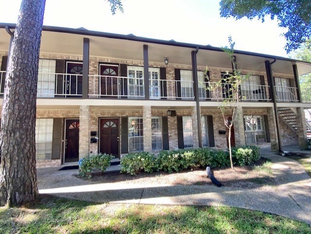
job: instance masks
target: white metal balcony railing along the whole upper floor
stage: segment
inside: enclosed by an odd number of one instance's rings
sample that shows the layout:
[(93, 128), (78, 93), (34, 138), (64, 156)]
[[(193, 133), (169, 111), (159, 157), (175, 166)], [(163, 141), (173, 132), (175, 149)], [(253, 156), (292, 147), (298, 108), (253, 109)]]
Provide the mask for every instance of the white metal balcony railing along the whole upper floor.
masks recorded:
[[(4, 93), (5, 71), (0, 71), (0, 94)], [(82, 98), (82, 74), (38, 73), (38, 98)], [(125, 76), (88, 76), (89, 98), (145, 99), (144, 78)], [(219, 101), (230, 94), (231, 84), (223, 83), (213, 90), (216, 83), (198, 84), (200, 101)], [(207, 89), (206, 87), (211, 87)], [(271, 101), (267, 85), (240, 86), (243, 101)], [(276, 86), (277, 102), (298, 102), (297, 89)], [(303, 102), (311, 103), (310, 94), (302, 93)], [(194, 82), (183, 80), (149, 79), (149, 99), (151, 100), (195, 100)]]

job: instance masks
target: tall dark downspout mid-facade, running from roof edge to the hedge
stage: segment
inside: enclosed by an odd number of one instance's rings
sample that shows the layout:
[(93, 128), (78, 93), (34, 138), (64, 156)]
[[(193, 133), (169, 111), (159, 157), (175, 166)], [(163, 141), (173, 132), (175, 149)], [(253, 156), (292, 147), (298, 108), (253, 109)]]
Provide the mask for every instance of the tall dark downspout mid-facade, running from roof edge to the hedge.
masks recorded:
[(199, 83), (198, 83), (198, 69), (197, 69), (197, 61), (196, 54), (199, 51), (199, 47), (195, 48), (195, 51), (191, 52), (192, 57), (192, 76), (194, 80), (194, 94), (196, 101), (196, 114), (197, 114), (197, 122), (198, 122), (198, 140), (199, 147), (202, 148), (202, 129), (201, 129), (201, 111), (200, 111), (200, 99), (199, 99)]

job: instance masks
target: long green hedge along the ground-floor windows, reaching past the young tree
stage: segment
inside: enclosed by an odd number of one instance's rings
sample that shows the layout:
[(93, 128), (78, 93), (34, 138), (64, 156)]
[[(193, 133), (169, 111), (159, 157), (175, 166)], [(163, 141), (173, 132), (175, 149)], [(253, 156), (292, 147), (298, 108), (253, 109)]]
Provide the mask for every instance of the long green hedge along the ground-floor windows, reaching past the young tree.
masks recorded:
[[(235, 165), (249, 165), (260, 159), (259, 147), (254, 145), (232, 148)], [(230, 165), (229, 152), (212, 148), (163, 150), (157, 157), (149, 152), (129, 153), (121, 159), (121, 173), (136, 175), (138, 172), (178, 172), (187, 168)]]

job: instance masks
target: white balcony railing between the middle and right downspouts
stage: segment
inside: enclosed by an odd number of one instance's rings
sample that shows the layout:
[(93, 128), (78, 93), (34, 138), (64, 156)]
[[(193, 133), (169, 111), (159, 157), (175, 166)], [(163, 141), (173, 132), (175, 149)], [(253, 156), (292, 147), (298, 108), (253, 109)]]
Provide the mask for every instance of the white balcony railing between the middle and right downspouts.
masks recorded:
[[(202, 100), (223, 100), (232, 95), (232, 84), (222, 83), (222, 86), (217, 87), (218, 83), (202, 82), (199, 85), (199, 98)], [(267, 85), (240, 85), (240, 97), (245, 101), (269, 101), (268, 95), (269, 86)]]

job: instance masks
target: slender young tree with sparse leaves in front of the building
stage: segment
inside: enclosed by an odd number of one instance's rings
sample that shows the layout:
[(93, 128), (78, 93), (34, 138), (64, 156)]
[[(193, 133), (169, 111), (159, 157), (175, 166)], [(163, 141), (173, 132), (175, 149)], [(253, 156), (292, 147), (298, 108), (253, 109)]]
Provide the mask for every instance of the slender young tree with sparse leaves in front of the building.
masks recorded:
[[(229, 37), (229, 44), (230, 47), (222, 48), (223, 51), (228, 54), (231, 62), (232, 67), (236, 68), (236, 60), (234, 57), (234, 42), (232, 42), (231, 37)], [(204, 74), (207, 75), (208, 68), (205, 69)], [(247, 78), (248, 75), (245, 77), (241, 76), (241, 72), (238, 69), (233, 69), (233, 73), (229, 73), (226, 71), (226, 74), (223, 76), (221, 80), (216, 83), (210, 83), (208, 90), (211, 90), (214, 93), (214, 96), (217, 97), (218, 108), (221, 110), (225, 126), (229, 129), (228, 134), (228, 144), (229, 144), (229, 156), (230, 156), (230, 165), (233, 168), (232, 162), (232, 150), (231, 150), (231, 130), (235, 119), (237, 118), (237, 108), (239, 107), (240, 100), (245, 99), (240, 94), (239, 87), (242, 84), (242, 80)], [(220, 91), (221, 90), (221, 91)], [(223, 100), (220, 101), (219, 94), (223, 95)], [(229, 122), (226, 120), (226, 112), (227, 110), (232, 111), (232, 121)]]

